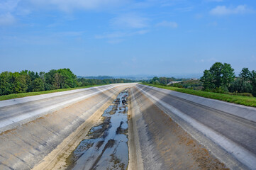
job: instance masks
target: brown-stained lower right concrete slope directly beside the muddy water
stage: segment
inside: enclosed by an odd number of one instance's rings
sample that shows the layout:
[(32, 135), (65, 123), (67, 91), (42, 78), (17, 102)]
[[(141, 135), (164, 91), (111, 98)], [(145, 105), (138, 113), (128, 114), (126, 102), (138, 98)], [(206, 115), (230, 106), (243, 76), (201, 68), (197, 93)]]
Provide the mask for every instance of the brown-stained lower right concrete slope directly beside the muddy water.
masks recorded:
[(131, 103), (135, 135), (130, 146), (141, 155), (137, 164), (129, 162), (133, 169), (226, 169), (139, 89), (131, 89)]

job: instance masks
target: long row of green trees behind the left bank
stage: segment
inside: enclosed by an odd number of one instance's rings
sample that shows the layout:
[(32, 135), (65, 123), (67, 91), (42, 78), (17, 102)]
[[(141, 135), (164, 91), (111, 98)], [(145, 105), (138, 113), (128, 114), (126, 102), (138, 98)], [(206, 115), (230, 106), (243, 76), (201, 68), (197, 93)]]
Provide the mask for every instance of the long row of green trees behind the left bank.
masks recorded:
[(77, 76), (70, 69), (52, 69), (49, 72), (39, 73), (28, 70), (21, 72), (1, 72), (0, 96), (126, 82), (133, 81), (128, 79), (77, 79)]

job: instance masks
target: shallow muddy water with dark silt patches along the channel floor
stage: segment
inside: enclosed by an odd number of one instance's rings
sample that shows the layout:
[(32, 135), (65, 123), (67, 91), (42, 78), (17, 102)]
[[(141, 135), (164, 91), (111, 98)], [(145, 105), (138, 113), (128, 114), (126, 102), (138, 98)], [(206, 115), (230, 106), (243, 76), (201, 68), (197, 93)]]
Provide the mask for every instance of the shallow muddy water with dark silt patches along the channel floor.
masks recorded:
[(128, 166), (128, 91), (118, 94), (102, 115), (103, 122), (89, 131), (67, 159), (67, 169), (126, 169)]

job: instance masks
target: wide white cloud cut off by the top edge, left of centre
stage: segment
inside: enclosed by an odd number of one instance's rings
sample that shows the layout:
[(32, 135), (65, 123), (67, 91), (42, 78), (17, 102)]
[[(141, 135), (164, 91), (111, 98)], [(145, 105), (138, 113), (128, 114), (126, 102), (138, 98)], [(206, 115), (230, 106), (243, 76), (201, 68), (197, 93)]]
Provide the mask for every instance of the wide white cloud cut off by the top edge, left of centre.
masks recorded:
[(62, 11), (70, 12), (74, 9), (95, 9), (126, 4), (128, 0), (30, 0), (38, 6), (56, 6)]

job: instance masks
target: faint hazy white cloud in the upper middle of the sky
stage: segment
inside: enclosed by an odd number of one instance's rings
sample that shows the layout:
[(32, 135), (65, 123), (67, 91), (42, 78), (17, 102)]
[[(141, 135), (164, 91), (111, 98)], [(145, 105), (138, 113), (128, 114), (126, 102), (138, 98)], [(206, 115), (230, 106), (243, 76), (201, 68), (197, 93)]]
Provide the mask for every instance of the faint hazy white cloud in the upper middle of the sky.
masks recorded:
[(113, 28), (145, 28), (148, 26), (148, 18), (138, 16), (135, 13), (127, 13), (111, 20)]

